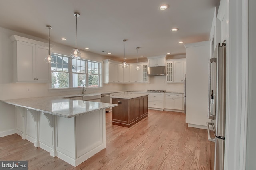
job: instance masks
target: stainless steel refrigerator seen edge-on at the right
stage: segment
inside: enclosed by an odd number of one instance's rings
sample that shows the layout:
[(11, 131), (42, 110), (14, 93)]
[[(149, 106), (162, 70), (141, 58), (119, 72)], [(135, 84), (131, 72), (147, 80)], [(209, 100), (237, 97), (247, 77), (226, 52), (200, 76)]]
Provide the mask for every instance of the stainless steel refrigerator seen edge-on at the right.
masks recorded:
[[(226, 121), (226, 44), (218, 45), (209, 62), (208, 139), (215, 142), (214, 170), (224, 169)], [(213, 131), (213, 135), (211, 132)]]

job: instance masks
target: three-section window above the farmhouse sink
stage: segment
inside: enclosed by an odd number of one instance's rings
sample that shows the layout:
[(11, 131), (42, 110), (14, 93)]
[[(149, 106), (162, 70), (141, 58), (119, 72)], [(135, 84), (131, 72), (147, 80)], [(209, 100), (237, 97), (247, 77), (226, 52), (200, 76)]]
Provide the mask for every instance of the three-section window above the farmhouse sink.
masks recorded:
[(100, 87), (100, 63), (52, 53), (52, 88)]

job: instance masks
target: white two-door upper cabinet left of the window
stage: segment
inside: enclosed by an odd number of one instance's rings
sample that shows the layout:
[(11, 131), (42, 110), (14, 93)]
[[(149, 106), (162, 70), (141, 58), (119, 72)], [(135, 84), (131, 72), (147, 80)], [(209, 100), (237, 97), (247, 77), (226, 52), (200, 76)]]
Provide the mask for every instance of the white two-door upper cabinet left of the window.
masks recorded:
[(44, 61), (48, 56), (47, 43), (17, 35), (12, 41), (14, 82), (51, 82), (51, 65)]

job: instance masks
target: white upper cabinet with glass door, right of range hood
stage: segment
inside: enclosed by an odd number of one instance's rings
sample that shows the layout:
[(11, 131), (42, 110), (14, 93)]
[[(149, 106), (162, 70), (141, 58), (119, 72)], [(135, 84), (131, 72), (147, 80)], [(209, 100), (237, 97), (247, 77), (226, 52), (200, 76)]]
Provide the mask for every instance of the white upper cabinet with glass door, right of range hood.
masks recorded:
[(183, 83), (186, 74), (186, 59), (166, 61), (166, 82)]

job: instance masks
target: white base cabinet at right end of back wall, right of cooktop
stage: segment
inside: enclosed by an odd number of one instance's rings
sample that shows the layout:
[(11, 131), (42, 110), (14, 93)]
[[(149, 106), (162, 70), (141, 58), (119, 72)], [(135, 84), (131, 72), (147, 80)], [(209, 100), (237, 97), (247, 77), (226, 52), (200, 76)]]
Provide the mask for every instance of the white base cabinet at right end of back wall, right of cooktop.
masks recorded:
[(164, 109), (183, 110), (183, 106), (183, 94), (164, 94)]

